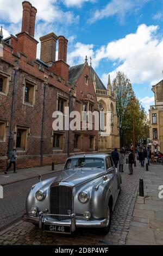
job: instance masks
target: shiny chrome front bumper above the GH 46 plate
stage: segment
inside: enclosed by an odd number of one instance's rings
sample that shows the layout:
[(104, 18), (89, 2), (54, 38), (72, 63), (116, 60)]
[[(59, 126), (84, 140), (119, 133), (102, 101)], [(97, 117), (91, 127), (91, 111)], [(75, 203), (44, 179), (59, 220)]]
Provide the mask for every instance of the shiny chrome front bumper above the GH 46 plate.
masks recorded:
[(27, 214), (24, 214), (22, 218), (23, 221), (39, 224), (39, 228), (43, 228), (44, 224), (71, 226), (72, 232), (75, 231), (76, 228), (103, 228), (106, 225), (106, 219), (79, 220), (76, 218), (71, 218), (70, 220), (66, 221), (57, 221), (54, 219), (52, 220), (52, 218), (43, 217), (42, 215), (40, 215), (40, 217), (34, 217)]

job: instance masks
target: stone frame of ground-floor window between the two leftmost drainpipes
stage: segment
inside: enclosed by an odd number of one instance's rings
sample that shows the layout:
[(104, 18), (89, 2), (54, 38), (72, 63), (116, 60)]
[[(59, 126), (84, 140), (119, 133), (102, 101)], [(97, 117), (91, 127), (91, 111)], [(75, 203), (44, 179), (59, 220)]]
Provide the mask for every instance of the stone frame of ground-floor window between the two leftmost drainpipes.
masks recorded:
[[(22, 142), (21, 148), (16, 148), (16, 141), (17, 141), (17, 130), (24, 130), (24, 137)], [(26, 153), (27, 152), (27, 140), (28, 136), (30, 135), (30, 128), (26, 126), (16, 125), (15, 126), (15, 148), (18, 153)]]

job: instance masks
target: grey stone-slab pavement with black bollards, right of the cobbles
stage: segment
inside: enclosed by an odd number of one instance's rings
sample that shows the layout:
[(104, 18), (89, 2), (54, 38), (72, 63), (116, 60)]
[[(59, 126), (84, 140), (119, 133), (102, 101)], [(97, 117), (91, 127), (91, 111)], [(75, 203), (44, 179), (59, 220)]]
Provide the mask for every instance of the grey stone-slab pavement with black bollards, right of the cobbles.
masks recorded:
[(145, 196), (137, 195), (127, 245), (163, 245), (163, 166), (151, 164), (143, 174)]

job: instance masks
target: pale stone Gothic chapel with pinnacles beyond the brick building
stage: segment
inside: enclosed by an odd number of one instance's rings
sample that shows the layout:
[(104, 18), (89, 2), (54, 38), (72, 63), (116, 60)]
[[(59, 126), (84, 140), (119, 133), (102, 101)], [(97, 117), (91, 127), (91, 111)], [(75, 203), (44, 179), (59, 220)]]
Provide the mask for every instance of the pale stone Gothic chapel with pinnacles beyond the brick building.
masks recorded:
[(90, 72), (97, 96), (99, 111), (104, 111), (105, 114), (107, 112), (111, 113), (109, 135), (104, 136), (102, 131), (99, 131), (98, 135), (99, 151), (108, 153), (115, 148), (120, 149), (120, 129), (116, 113), (116, 93), (114, 88), (112, 88), (111, 86), (110, 75), (108, 79), (108, 86), (106, 89), (104, 84), (96, 74), (95, 70), (93, 70), (91, 66)]

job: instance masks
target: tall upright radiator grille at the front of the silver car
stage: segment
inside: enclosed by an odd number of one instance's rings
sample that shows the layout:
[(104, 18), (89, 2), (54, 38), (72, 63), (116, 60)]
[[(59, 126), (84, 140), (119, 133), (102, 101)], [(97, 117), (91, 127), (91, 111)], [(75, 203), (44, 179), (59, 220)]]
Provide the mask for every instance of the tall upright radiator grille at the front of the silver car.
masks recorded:
[(72, 204), (72, 188), (66, 186), (53, 186), (51, 187), (51, 214), (57, 220), (68, 220), (69, 216), (57, 216), (68, 215), (68, 212), (73, 213)]

